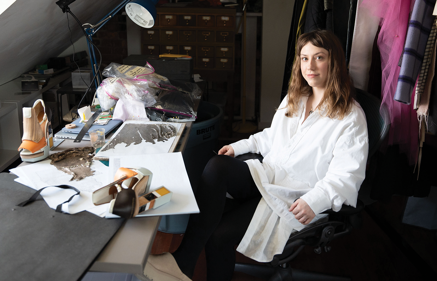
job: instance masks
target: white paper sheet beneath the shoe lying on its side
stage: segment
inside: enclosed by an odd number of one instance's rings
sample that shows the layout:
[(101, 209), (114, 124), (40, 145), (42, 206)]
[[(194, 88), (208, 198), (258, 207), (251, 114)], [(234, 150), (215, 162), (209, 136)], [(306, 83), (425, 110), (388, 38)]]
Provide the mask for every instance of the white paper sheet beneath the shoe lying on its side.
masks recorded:
[[(191, 189), (190, 180), (185, 170), (182, 153), (161, 153), (131, 155), (109, 158), (109, 175), (114, 174), (119, 167), (144, 167), (153, 173), (150, 190), (165, 186), (173, 192), (170, 202), (143, 212), (138, 216), (175, 215), (198, 213), (199, 208)], [(117, 215), (107, 213), (107, 218), (118, 218)]]

